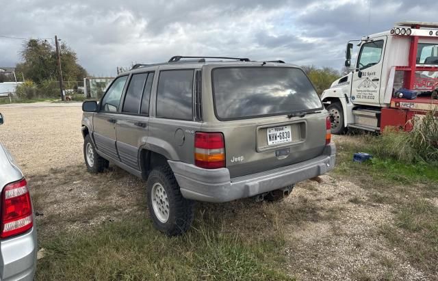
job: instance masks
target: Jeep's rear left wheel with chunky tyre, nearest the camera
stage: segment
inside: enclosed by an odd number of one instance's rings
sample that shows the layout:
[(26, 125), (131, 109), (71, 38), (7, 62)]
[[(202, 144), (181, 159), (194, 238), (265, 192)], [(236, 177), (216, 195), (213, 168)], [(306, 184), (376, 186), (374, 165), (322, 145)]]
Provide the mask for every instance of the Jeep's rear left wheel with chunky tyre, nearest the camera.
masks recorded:
[(183, 198), (168, 166), (151, 171), (147, 182), (147, 200), (153, 224), (168, 236), (181, 235), (192, 225), (194, 202)]

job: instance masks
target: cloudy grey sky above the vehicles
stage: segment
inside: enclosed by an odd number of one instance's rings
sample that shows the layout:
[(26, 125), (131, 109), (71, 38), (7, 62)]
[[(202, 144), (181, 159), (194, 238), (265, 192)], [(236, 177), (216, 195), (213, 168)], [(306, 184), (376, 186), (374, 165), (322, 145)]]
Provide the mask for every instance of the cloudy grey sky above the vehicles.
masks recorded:
[[(115, 75), (116, 66), (162, 62), (172, 55), (283, 59), (339, 69), (348, 40), (396, 21), (438, 21), (436, 0), (68, 2), (1, 0), (0, 36), (57, 34), (92, 75)], [(21, 44), (0, 37), (0, 66), (20, 60)]]

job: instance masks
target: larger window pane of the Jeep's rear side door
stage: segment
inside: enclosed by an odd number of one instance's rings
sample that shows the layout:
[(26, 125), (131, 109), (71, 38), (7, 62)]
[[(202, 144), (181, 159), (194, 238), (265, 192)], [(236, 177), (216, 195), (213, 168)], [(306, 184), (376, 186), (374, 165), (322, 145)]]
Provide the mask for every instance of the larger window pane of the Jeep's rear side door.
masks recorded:
[(131, 81), (129, 81), (128, 90), (126, 91), (125, 103), (123, 103), (123, 112), (138, 113), (146, 77), (148, 77), (147, 73), (132, 75)]

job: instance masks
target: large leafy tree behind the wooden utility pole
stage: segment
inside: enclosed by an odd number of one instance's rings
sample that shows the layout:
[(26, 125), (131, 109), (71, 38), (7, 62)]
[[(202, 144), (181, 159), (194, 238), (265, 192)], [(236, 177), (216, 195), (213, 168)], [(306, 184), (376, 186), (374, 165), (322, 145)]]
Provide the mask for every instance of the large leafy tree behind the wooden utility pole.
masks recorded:
[[(16, 65), (16, 72), (23, 72), (26, 79), (41, 85), (44, 81), (58, 80), (56, 49), (47, 40), (30, 39), (20, 52), (22, 62)], [(64, 81), (82, 81), (86, 70), (77, 63), (76, 52), (65, 42), (60, 44), (62, 78)]]

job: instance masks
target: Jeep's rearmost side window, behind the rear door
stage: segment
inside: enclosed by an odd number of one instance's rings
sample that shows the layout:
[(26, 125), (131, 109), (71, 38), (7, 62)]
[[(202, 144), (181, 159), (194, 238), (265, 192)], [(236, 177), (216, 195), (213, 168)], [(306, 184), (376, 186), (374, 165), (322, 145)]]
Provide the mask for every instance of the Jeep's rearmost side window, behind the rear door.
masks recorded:
[(157, 117), (192, 120), (194, 70), (165, 70), (159, 73)]

